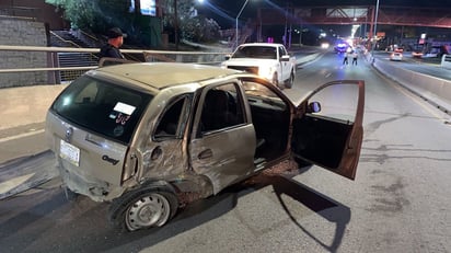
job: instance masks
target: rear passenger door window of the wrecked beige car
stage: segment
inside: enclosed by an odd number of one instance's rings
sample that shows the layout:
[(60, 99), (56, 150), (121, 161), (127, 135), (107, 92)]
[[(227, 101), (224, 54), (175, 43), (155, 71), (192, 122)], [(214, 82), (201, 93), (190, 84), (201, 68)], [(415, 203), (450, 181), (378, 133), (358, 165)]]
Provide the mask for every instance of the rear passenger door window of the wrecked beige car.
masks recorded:
[(235, 84), (208, 90), (200, 117), (203, 133), (244, 124), (243, 102)]

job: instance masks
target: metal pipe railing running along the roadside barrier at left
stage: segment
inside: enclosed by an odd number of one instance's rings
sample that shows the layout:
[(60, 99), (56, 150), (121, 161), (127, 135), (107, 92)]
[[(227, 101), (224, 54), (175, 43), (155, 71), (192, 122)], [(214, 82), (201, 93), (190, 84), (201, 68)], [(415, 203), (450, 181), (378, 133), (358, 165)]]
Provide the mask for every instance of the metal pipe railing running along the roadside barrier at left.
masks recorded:
[[(60, 84), (67, 83), (76, 78), (80, 77), (88, 70), (99, 68), (99, 62), (91, 62), (88, 66), (70, 66), (61, 67), (58, 62), (58, 54), (63, 53), (89, 53), (97, 54), (99, 48), (71, 48), (71, 47), (35, 47), (35, 46), (8, 46), (0, 45), (0, 56), (1, 58), (8, 60), (8, 57), (18, 58), (20, 55), (30, 54), (30, 53), (42, 53), (38, 57), (45, 58), (39, 62), (43, 62), (42, 66), (30, 66), (27, 62), (12, 65), (12, 66), (26, 66), (19, 68), (5, 68), (4, 65), (0, 68), (0, 89), (18, 87), (18, 84), (11, 84), (11, 80), (15, 78), (18, 80), (23, 80), (19, 84), (20, 87), (25, 85), (36, 85), (36, 84)], [(9, 53), (9, 54), (7, 54)], [(200, 65), (219, 65), (224, 60), (224, 56), (230, 53), (224, 51), (169, 51), (169, 50), (146, 50), (146, 49), (122, 49), (122, 53), (129, 55), (141, 55), (142, 59), (146, 59), (147, 62), (192, 62)], [(13, 54), (13, 55), (11, 55)], [(11, 66), (9, 64), (8, 66)], [(33, 74), (25, 73), (41, 73), (45, 76), (38, 80), (33, 79)], [(45, 72), (46, 74), (42, 74)], [(28, 76), (24, 80), (24, 77)], [(37, 76), (37, 74), (36, 74)], [(61, 78), (63, 77), (63, 78)], [(27, 83), (23, 83), (27, 82)]]

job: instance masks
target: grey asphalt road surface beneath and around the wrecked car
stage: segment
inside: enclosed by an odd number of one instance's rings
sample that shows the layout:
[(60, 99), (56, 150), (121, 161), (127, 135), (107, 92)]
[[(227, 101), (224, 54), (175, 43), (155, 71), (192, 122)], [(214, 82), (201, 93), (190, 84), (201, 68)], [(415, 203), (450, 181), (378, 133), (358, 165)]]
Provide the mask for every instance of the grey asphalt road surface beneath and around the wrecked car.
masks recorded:
[(163, 228), (122, 233), (107, 204), (67, 200), (56, 180), (0, 203), (1, 252), (451, 252), (448, 115), (335, 54), (298, 69), (285, 92), (299, 101), (335, 79), (366, 80), (356, 181), (317, 166), (259, 177)]

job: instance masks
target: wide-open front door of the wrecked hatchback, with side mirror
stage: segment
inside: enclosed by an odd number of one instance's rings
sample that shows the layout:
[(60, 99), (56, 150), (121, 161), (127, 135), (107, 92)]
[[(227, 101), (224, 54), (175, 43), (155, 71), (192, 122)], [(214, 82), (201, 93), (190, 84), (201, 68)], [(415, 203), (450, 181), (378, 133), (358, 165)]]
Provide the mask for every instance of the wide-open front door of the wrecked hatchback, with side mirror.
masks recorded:
[(365, 81), (339, 80), (312, 91), (293, 118), (299, 159), (354, 180), (363, 138)]

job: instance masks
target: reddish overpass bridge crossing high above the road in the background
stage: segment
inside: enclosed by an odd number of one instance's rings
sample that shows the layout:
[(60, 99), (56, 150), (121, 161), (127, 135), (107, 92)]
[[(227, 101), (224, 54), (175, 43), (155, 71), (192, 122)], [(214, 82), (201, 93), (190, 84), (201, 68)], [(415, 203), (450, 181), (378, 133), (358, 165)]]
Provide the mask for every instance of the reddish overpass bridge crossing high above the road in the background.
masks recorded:
[[(375, 5), (323, 5), (291, 7), (275, 11), (274, 8), (262, 8), (257, 11), (257, 22), (263, 25), (284, 24), (334, 24), (361, 25), (369, 24), (369, 36), (372, 37)], [(378, 25), (405, 25), (451, 28), (451, 8), (416, 8), (380, 5)]]

